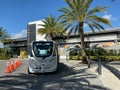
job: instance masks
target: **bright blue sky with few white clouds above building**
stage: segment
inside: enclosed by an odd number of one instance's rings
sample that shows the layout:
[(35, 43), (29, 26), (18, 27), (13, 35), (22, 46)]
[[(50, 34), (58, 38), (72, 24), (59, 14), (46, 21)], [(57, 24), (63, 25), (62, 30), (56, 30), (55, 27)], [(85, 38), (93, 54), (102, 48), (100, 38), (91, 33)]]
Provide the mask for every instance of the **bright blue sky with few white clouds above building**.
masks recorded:
[[(0, 27), (6, 29), (11, 38), (24, 38), (29, 22), (49, 15), (59, 17), (58, 9), (64, 6), (67, 6), (64, 0), (0, 0)], [(106, 14), (100, 14), (112, 23), (112, 27), (105, 28), (120, 27), (120, 0), (93, 0), (91, 8), (95, 6), (109, 6)]]

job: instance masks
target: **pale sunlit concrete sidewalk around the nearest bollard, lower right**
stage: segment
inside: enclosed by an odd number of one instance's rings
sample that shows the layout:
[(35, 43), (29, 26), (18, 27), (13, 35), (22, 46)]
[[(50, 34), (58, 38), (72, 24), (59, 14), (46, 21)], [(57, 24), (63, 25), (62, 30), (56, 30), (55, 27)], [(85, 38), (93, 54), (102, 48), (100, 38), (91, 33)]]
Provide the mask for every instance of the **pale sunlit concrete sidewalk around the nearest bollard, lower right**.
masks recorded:
[[(110, 65), (110, 63), (108, 63), (108, 65)], [(117, 78), (111, 71), (109, 71), (103, 65), (102, 65), (102, 74), (98, 75), (97, 68), (98, 68), (97, 63), (94, 63), (93, 65), (91, 65), (91, 68), (89, 68), (89, 70), (92, 71), (94, 74), (96, 74), (98, 78), (102, 81), (104, 86), (106, 88), (109, 88), (109, 90), (120, 90), (119, 78)], [(118, 67), (115, 68), (119, 69)]]

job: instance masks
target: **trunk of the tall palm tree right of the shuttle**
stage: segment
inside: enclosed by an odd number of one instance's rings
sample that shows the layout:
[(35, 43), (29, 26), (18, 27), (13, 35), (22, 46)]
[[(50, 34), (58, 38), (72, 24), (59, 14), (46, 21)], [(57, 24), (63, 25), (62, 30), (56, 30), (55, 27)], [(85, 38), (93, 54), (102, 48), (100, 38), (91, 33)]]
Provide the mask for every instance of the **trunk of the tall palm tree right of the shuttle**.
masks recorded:
[(86, 50), (85, 50), (85, 42), (84, 42), (84, 31), (83, 31), (83, 22), (79, 23), (79, 33), (80, 33), (80, 40), (81, 40), (81, 49), (82, 49), (82, 63), (87, 62)]

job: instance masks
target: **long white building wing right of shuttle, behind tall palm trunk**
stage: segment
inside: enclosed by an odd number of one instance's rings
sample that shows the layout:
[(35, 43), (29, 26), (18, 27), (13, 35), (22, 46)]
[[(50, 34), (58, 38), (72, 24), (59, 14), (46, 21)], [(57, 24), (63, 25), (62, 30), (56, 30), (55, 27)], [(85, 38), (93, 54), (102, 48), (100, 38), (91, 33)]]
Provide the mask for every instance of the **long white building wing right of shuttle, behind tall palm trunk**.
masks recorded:
[[(60, 58), (66, 58), (70, 48), (81, 47), (80, 35), (55, 37), (54, 40), (59, 46)], [(86, 32), (84, 33), (84, 41), (86, 48), (102, 47), (109, 50), (120, 50), (120, 28), (95, 33)]]

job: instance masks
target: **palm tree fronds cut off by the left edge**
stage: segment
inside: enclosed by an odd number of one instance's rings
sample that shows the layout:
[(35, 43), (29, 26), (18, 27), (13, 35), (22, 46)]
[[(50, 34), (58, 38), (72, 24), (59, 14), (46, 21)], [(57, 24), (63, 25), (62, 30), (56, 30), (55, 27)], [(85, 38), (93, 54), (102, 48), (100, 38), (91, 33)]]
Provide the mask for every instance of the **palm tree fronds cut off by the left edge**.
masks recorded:
[(9, 34), (7, 33), (6, 30), (4, 30), (2, 27), (0, 27), (0, 42), (9, 42)]

